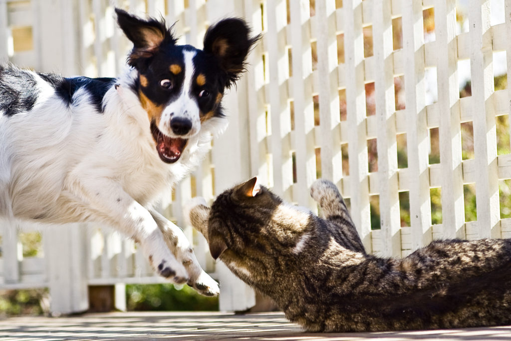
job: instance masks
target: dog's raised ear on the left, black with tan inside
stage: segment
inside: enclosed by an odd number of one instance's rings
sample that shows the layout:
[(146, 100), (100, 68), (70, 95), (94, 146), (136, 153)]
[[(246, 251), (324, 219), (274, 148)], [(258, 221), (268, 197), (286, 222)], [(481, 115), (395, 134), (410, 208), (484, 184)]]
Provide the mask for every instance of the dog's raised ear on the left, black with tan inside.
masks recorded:
[(139, 61), (152, 57), (162, 44), (176, 44), (176, 38), (165, 26), (165, 20), (138, 18), (116, 8), (117, 22), (126, 37), (133, 42), (133, 50), (128, 56), (128, 64), (137, 67)]

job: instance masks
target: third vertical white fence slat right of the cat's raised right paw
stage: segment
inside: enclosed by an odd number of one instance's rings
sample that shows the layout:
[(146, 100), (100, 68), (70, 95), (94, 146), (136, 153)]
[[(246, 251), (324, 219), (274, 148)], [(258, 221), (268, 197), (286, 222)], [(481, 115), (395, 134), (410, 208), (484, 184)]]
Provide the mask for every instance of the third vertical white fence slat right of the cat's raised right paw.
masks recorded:
[(424, 94), (426, 87), (423, 13), (420, 1), (402, 1), (403, 65), (405, 80), (406, 141), (412, 249), (431, 240), (429, 192), (429, 139)]

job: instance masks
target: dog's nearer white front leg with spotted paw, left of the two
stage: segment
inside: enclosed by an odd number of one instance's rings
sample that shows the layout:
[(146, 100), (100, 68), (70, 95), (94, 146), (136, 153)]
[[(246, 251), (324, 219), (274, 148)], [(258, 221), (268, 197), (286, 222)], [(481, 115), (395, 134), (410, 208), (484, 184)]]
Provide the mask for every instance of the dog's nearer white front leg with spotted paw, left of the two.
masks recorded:
[[(90, 184), (94, 186), (90, 186)], [(149, 211), (112, 181), (80, 181), (82, 190), (90, 196), (90, 207), (96, 215), (114, 228), (133, 238), (160, 276), (174, 283), (189, 281), (188, 271), (171, 253), (164, 235)], [(88, 184), (84, 188), (84, 184)], [(93, 214), (94, 214), (93, 213)]]

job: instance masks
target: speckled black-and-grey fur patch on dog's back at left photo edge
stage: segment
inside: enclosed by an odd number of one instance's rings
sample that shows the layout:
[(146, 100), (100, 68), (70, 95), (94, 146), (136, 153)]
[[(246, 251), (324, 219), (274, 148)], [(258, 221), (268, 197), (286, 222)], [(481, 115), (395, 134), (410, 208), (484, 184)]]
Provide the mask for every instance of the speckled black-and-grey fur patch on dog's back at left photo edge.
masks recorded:
[(4, 115), (11, 117), (32, 110), (39, 92), (30, 72), (0, 65), (0, 111)]

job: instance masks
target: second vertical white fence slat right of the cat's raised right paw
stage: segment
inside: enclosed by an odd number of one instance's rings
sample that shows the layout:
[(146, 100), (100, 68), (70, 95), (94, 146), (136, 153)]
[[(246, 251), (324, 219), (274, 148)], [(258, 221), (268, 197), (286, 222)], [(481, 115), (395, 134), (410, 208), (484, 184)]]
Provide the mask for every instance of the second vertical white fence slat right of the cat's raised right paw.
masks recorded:
[[(398, 194), (398, 148), (392, 59), (392, 16), (390, 0), (374, 0), (373, 43), (375, 105), (378, 125), (377, 152), (380, 193), (380, 222), (385, 256), (401, 256)], [(371, 186), (369, 186), (370, 189)]]

